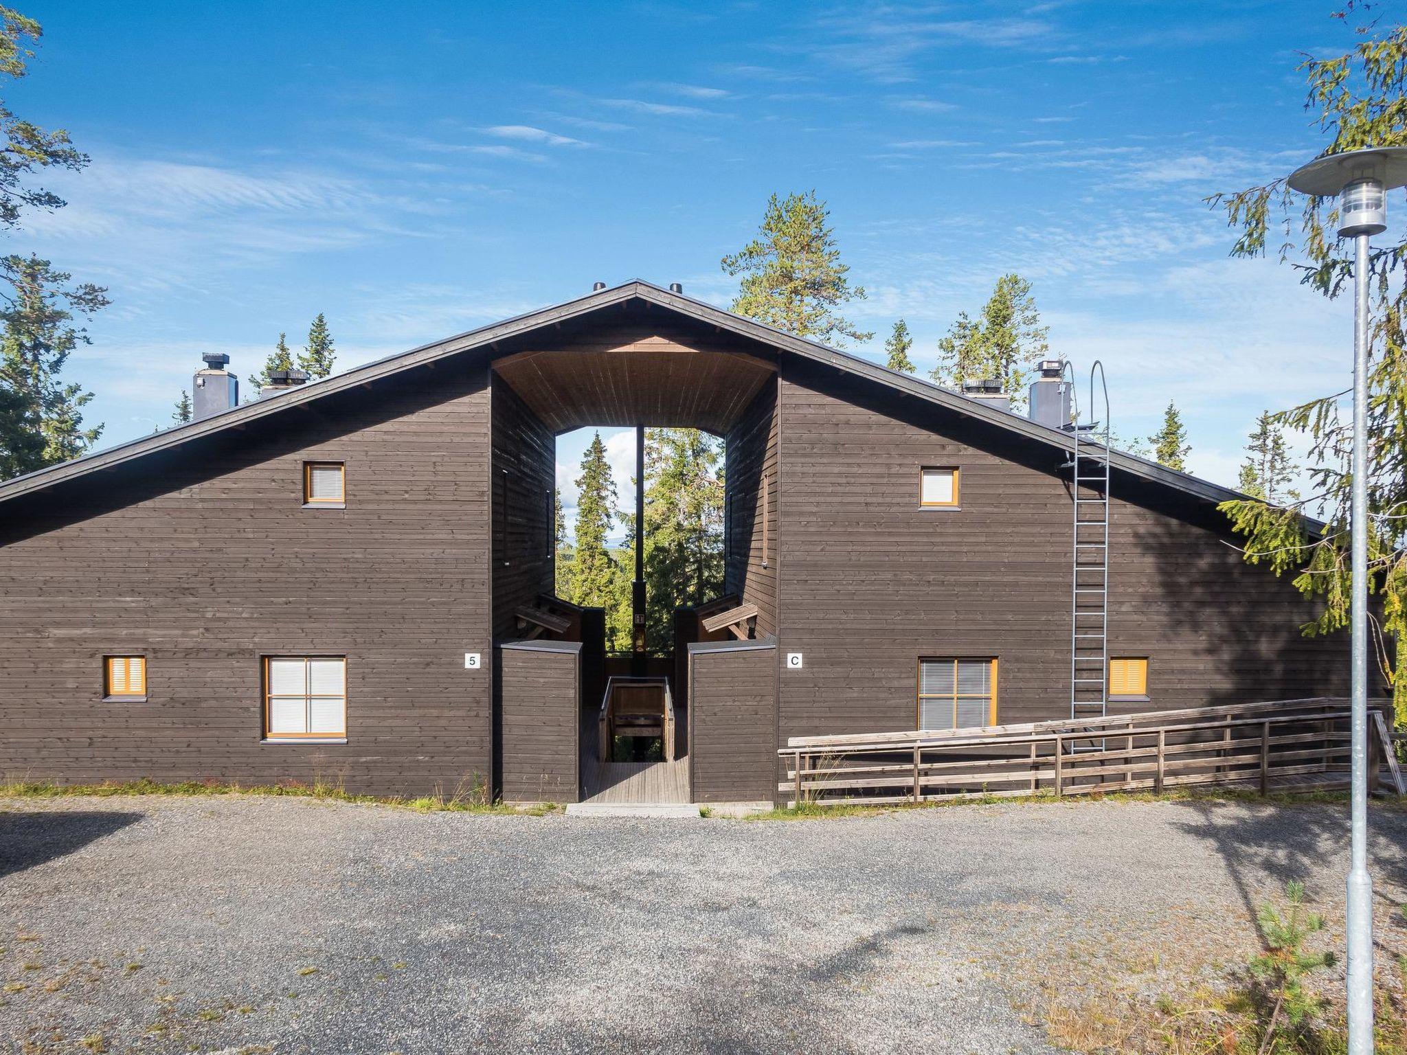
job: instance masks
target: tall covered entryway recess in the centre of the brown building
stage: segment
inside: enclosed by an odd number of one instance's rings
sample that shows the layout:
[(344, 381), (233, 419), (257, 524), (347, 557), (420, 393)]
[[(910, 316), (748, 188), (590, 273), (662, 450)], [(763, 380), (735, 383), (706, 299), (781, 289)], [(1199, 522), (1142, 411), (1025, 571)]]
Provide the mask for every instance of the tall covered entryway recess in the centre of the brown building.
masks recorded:
[[(509, 654), (512, 677), (499, 678), (495, 709), (499, 743), (495, 788), (508, 799), (598, 803), (688, 803), (695, 726), (712, 722), (699, 740), (730, 750), (734, 740), (718, 726), (736, 723), (730, 706), (729, 667), (723, 654), (691, 675), (689, 646), (699, 641), (765, 643), (775, 615), (775, 452), (777, 350), (734, 333), (688, 325), (647, 301), (628, 301), (560, 326), (537, 329), (514, 346), (495, 349), (492, 363), (492, 598), (499, 654)], [(725, 442), (725, 528), (722, 592), (696, 609), (678, 609), (673, 648), (646, 647), (646, 613), (660, 599), (646, 595), (643, 546), (636, 546), (632, 589), (632, 641), (628, 653), (606, 651), (602, 609), (575, 609), (553, 595), (556, 439), (587, 428), (636, 430), (637, 481), (644, 480), (644, 429), (692, 428)], [(643, 487), (636, 488), (635, 537), (644, 525)], [(670, 603), (664, 601), (663, 603)], [(656, 615), (656, 619), (660, 616)], [(574, 713), (570, 720), (564, 679), (546, 667), (561, 665), (552, 647), (521, 648), (522, 641), (575, 643)], [(507, 651), (505, 651), (507, 650)], [(775, 657), (775, 650), (771, 651)], [(737, 664), (757, 665), (757, 657)], [(540, 677), (526, 668), (539, 665)], [(507, 668), (505, 668), (507, 675)], [(756, 675), (749, 675), (753, 684)], [(708, 712), (691, 705), (704, 679)], [(713, 682), (718, 682), (715, 685)], [(746, 681), (746, 679), (744, 679)], [(775, 751), (775, 679), (770, 695), (749, 693), (747, 733), (761, 731), (765, 753)], [(533, 717), (542, 720), (535, 726)], [(509, 717), (512, 720), (509, 720)], [(564, 747), (571, 727), (570, 748)], [(552, 748), (546, 730), (559, 729)], [(516, 741), (516, 743), (515, 743)], [(577, 786), (567, 789), (543, 774), (563, 772), (574, 755)], [(747, 760), (751, 768), (754, 760)], [(765, 764), (764, 764), (765, 765)], [(771, 764), (774, 765), (774, 762)], [(709, 765), (729, 774), (732, 767)], [(767, 767), (765, 778), (771, 778)], [(757, 779), (727, 793), (727, 778), (711, 784), (709, 800), (756, 800)], [(747, 785), (746, 791), (741, 785)]]

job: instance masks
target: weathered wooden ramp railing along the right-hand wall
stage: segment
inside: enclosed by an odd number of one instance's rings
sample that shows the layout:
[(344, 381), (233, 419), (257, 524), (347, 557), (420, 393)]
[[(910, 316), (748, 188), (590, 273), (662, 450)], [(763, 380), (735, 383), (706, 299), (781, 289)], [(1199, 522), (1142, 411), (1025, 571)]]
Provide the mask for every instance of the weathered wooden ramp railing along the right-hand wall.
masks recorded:
[[(1379, 712), (1386, 701), (1373, 701)], [(1389, 712), (1390, 713), (1390, 712)], [(1390, 755), (1372, 719), (1370, 774)], [(1348, 779), (1348, 701), (1316, 698), (989, 729), (792, 737), (789, 803), (1154, 791), (1186, 785), (1332, 788)], [(1394, 791), (1401, 793), (1396, 767)]]

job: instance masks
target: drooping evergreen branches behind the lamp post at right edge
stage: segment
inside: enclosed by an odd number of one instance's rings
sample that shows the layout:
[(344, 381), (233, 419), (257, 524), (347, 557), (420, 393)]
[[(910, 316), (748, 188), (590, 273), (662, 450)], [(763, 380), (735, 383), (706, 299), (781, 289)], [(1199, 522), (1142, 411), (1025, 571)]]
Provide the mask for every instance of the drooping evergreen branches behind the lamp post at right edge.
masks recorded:
[[(1306, 58), (1306, 110), (1330, 139), (1323, 155), (1362, 146), (1407, 146), (1407, 25), (1377, 6), (1348, 4), (1348, 20), (1373, 10), (1356, 27), (1359, 42), (1346, 53)], [(1214, 194), (1209, 205), (1225, 211), (1238, 232), (1233, 256), (1263, 256), (1273, 229), (1278, 255), (1299, 269), (1301, 281), (1324, 297), (1352, 288), (1354, 243), (1337, 239), (1337, 201), (1292, 194), (1286, 177), (1247, 190)], [(1399, 726), (1407, 724), (1407, 679), (1397, 678), (1397, 648), (1407, 633), (1407, 241), (1401, 225), (1369, 256), (1370, 367), (1368, 377), (1369, 589), (1380, 598), (1382, 619), (1370, 622), (1373, 653), (1393, 685)], [(1346, 336), (1345, 336), (1345, 356)], [(1221, 509), (1247, 537), (1245, 558), (1266, 561), (1276, 574), (1294, 573), (1300, 592), (1320, 602), (1301, 629), (1321, 634), (1349, 625), (1349, 452), (1352, 416), (1345, 392), (1332, 392), (1272, 415), (1278, 426), (1310, 437), (1310, 495), (1279, 505), (1261, 499), (1224, 502)], [(1310, 537), (1304, 515), (1327, 528)]]

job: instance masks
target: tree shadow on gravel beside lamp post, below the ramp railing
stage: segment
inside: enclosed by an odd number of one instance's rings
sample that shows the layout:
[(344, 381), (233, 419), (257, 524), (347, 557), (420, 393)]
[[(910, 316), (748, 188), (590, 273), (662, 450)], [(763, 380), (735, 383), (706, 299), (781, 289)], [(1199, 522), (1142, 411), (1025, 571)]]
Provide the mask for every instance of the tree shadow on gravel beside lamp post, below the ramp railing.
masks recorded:
[[(1327, 890), (1324, 861), (1348, 854), (1348, 806), (1280, 806), (1240, 809), (1227, 803), (1186, 802), (1178, 809), (1192, 814), (1176, 826), (1189, 836), (1210, 843), (1225, 861), (1231, 882), (1255, 919), (1268, 895), (1283, 889), (1290, 879), (1304, 883), (1311, 897), (1341, 890)], [(1407, 817), (1370, 812), (1369, 867), (1383, 896), (1383, 882), (1407, 885)], [(1342, 886), (1337, 872), (1332, 883)]]

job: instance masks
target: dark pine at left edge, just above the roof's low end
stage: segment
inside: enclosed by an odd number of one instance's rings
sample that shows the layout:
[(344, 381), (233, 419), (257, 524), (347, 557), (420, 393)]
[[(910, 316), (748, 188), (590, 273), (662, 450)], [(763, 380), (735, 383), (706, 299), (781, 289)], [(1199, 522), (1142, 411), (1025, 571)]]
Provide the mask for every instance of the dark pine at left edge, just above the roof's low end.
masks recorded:
[(18, 475), (75, 459), (103, 433), (83, 425), (93, 394), (59, 376), (73, 349), (91, 343), (73, 312), (108, 300), (97, 286), (66, 286), (70, 276), (37, 256), (0, 259), (0, 276), (13, 290), (0, 308), (0, 467)]

